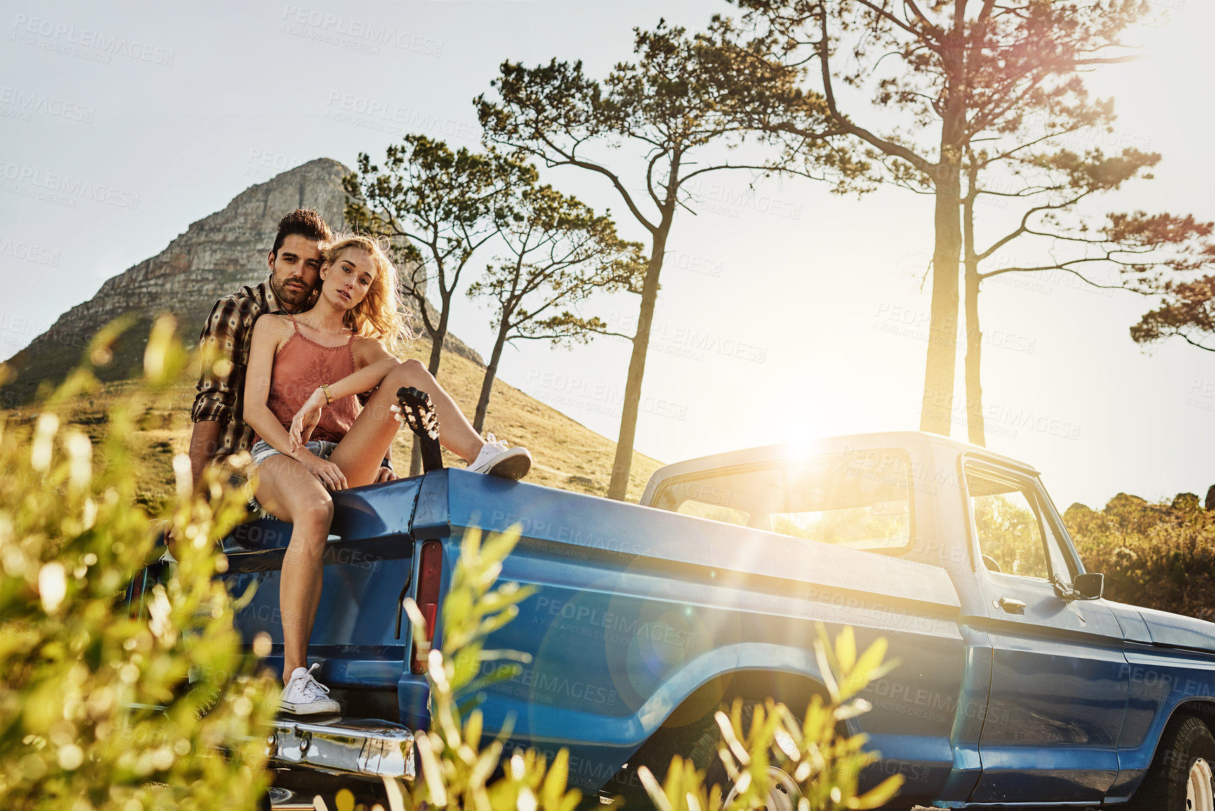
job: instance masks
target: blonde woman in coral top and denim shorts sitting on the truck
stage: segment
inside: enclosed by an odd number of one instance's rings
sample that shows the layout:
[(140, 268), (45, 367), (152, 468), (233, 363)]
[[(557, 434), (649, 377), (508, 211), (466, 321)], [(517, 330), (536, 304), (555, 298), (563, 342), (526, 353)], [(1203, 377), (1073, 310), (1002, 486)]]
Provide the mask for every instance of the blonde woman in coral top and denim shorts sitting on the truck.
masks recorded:
[[(377, 480), (400, 426), (392, 411), (396, 390), (412, 385), (430, 395), (442, 427), (440, 441), (468, 461), (469, 469), (518, 479), (531, 466), (525, 449), (507, 449), (493, 434), (488, 443), (482, 440), (425, 366), (390, 354), (407, 337), (407, 327), (396, 269), (379, 241), (339, 238), (326, 249), (320, 275), (312, 309), (258, 319), (244, 395), (245, 422), (258, 434), (252, 449), (256, 501), (260, 509), (292, 523), (278, 599), (282, 709), (295, 714), (340, 709), (312, 676), (320, 665), (307, 669), (333, 519), (329, 492)], [(361, 409), (355, 395), (372, 389)]]

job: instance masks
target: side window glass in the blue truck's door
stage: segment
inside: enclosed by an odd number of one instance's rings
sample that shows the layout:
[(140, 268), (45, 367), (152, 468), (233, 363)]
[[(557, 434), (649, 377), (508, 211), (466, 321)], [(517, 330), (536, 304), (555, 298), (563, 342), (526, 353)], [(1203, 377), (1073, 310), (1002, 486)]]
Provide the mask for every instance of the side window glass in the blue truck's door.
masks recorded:
[(1049, 579), (1042, 524), (1023, 483), (966, 468), (979, 551), (989, 569)]

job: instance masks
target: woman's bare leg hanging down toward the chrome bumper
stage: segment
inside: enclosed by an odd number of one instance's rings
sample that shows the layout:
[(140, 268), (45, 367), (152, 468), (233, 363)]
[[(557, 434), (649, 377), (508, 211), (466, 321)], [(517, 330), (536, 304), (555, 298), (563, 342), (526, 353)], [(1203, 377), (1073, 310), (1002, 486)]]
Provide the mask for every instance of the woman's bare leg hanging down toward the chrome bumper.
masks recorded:
[(292, 540), (278, 581), (286, 685), (293, 670), (307, 668), (307, 643), (321, 604), (333, 499), (315, 475), (289, 456), (271, 456), (258, 466), (256, 495), (266, 512), (292, 523)]

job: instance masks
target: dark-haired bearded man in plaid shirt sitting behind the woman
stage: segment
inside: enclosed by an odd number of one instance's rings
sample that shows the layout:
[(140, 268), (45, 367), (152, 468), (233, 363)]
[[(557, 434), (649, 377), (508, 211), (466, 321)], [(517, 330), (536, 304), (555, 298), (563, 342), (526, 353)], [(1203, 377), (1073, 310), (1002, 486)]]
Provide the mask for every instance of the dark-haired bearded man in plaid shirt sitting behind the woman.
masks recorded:
[[(312, 304), (321, 270), (321, 249), (333, 238), (316, 209), (298, 208), (278, 221), (275, 246), (266, 257), (270, 277), (225, 295), (211, 309), (198, 347), (203, 372), (191, 419), (190, 463), (194, 486), (208, 463), (253, 446), (244, 424), (244, 374), (253, 325), (265, 312), (301, 312)], [(395, 479), (385, 458), (379, 481)]]

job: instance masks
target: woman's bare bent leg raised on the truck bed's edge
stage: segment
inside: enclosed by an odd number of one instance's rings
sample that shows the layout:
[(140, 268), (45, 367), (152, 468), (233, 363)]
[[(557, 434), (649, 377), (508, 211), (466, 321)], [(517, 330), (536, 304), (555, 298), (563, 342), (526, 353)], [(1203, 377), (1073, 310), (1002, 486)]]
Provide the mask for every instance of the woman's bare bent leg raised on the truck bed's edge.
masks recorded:
[(439, 443), (443, 447), (471, 463), (485, 446), (485, 440), (473, 430), (473, 423), (451, 395), (439, 385), (425, 366), (411, 359), (384, 377), (379, 389), (329, 457), (330, 462), (341, 468), (350, 486), (357, 488), (375, 480), (380, 460), (401, 426), (390, 409), (396, 405), (396, 390), (402, 385), (412, 385), (430, 395), (435, 416), (439, 417)]

